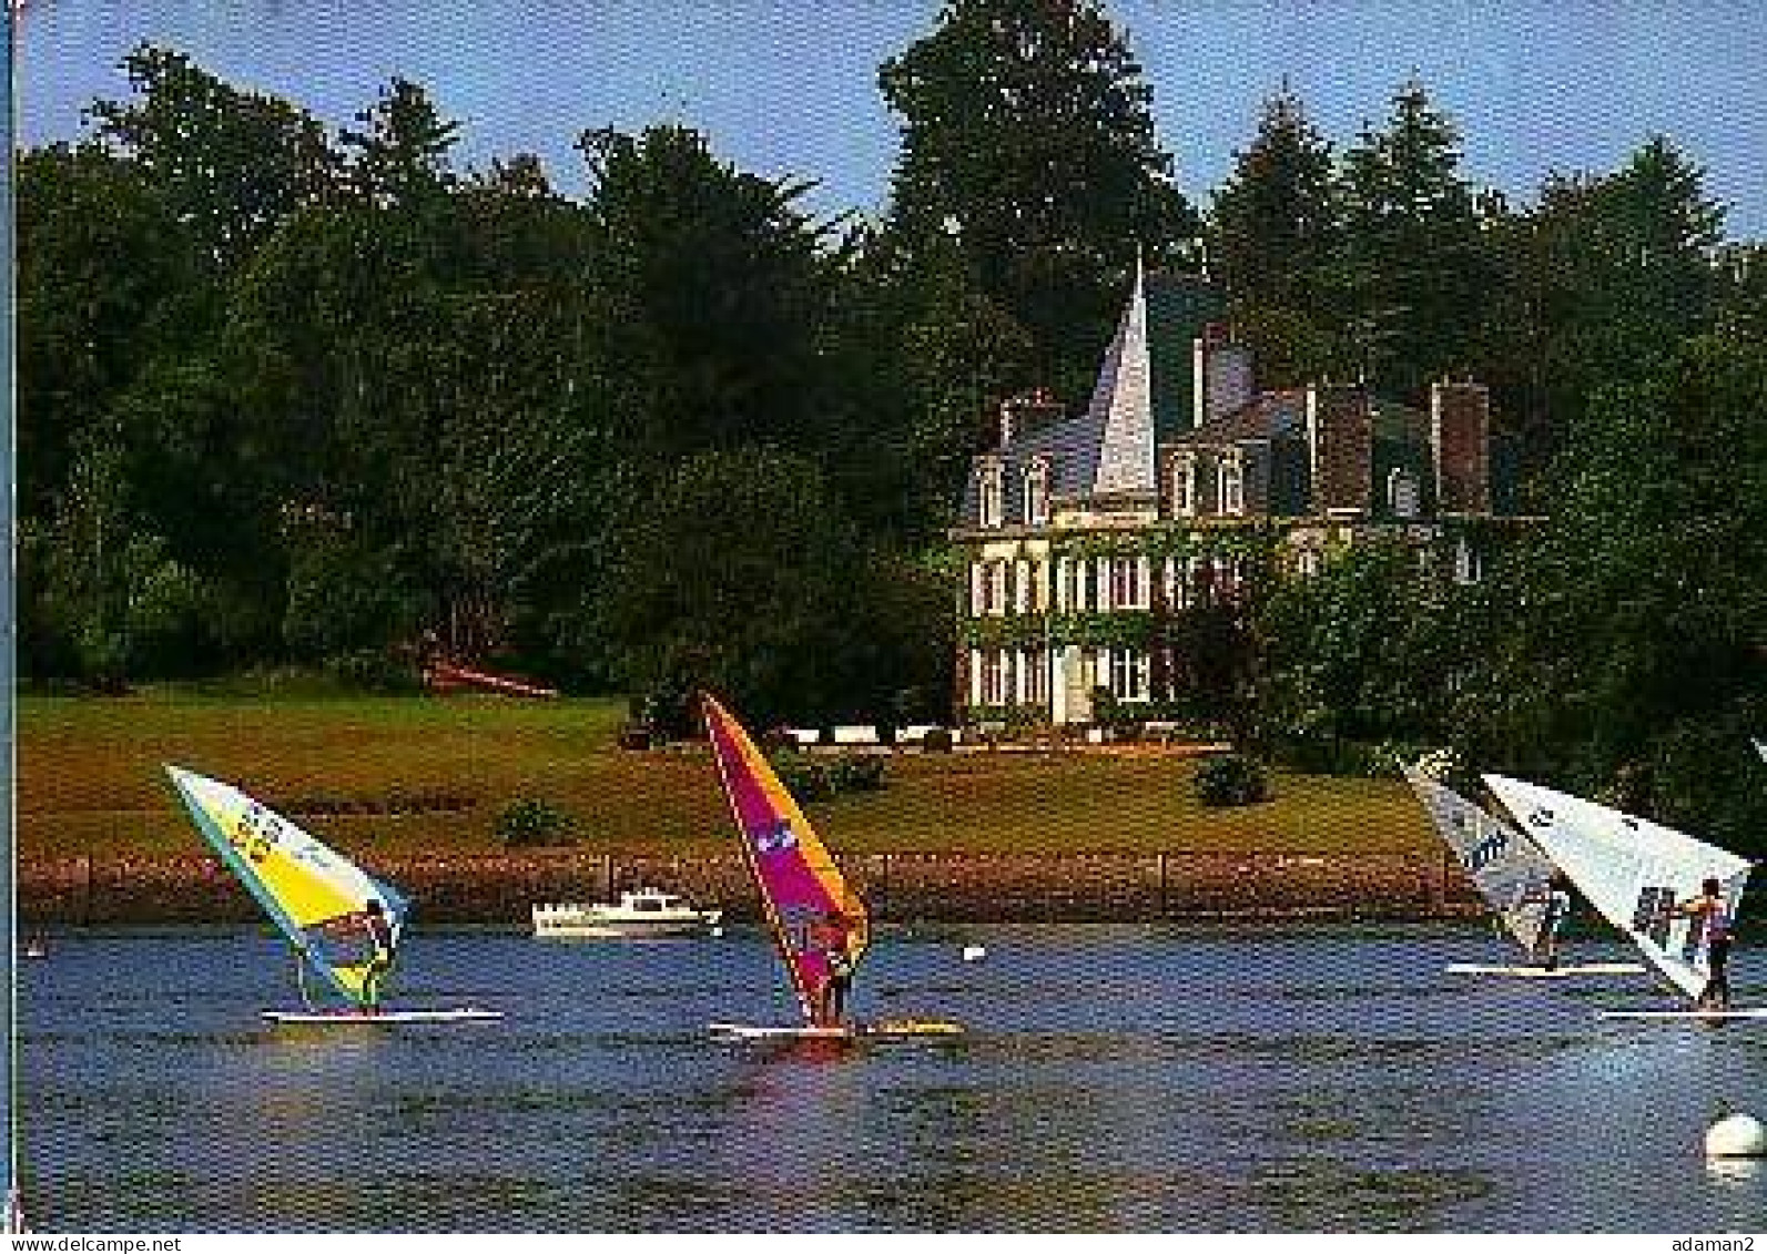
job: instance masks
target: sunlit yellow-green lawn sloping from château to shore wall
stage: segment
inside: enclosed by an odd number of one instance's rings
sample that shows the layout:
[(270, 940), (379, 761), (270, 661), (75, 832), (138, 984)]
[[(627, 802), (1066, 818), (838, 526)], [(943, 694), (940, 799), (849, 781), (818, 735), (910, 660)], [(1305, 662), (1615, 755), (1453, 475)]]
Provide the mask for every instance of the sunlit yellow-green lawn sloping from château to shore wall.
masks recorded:
[[(163, 763), (267, 802), (449, 793), (463, 812), (302, 818), (343, 850), (495, 851), (518, 798), (580, 820), (580, 842), (626, 853), (728, 850), (730, 816), (698, 745), (627, 752), (624, 701), (239, 698), (150, 689), (19, 698), (19, 857), (193, 853)], [(836, 851), (1435, 851), (1399, 781), (1276, 775), (1274, 800), (1207, 811), (1172, 756), (903, 754), (887, 786), (808, 807)]]

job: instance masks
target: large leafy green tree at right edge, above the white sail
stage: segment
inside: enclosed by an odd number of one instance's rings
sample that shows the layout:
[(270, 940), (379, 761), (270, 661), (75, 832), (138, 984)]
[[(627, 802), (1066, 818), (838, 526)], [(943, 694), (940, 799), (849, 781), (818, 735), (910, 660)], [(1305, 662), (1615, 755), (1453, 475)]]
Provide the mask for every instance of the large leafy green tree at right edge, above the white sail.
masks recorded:
[(1484, 719), (1504, 765), (1756, 850), (1767, 793), (1739, 779), (1767, 719), (1763, 406), (1767, 351), (1730, 336), (1597, 394), (1511, 590)]

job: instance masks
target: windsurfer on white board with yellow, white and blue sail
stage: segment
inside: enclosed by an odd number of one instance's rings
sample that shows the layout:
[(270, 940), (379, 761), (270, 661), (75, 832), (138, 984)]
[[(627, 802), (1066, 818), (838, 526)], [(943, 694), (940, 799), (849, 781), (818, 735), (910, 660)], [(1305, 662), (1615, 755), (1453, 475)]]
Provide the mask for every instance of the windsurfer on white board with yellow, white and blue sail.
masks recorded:
[[(368, 915), (383, 920), (389, 947), (410, 903), (336, 850), (231, 784), (166, 767), (196, 830), (295, 950), (302, 1008), (265, 1010), (272, 1023), (452, 1023), (498, 1019), (475, 1007), (383, 1010)], [(315, 1000), (307, 977), (316, 977)]]

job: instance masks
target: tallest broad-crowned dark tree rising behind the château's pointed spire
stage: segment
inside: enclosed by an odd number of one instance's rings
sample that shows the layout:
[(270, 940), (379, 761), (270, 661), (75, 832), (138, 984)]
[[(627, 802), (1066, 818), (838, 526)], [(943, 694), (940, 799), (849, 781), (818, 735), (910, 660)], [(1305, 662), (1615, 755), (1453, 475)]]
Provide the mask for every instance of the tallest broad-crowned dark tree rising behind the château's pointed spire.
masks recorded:
[(891, 230), (956, 240), (1032, 336), (1018, 385), (1083, 394), (1136, 247), (1173, 261), (1198, 235), (1127, 42), (1096, 0), (947, 0), (878, 81), (901, 117)]

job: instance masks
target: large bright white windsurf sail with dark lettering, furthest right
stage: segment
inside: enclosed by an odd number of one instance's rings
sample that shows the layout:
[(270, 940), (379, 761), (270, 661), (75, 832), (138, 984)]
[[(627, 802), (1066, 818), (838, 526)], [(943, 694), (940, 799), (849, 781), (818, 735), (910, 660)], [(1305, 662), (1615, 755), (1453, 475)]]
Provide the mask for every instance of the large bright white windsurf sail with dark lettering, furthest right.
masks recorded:
[(1698, 998), (1710, 975), (1705, 920), (1670, 911), (1718, 880), (1735, 917), (1748, 858), (1551, 788), (1504, 775), (1484, 782), (1603, 918), (1631, 936), (1663, 978)]

